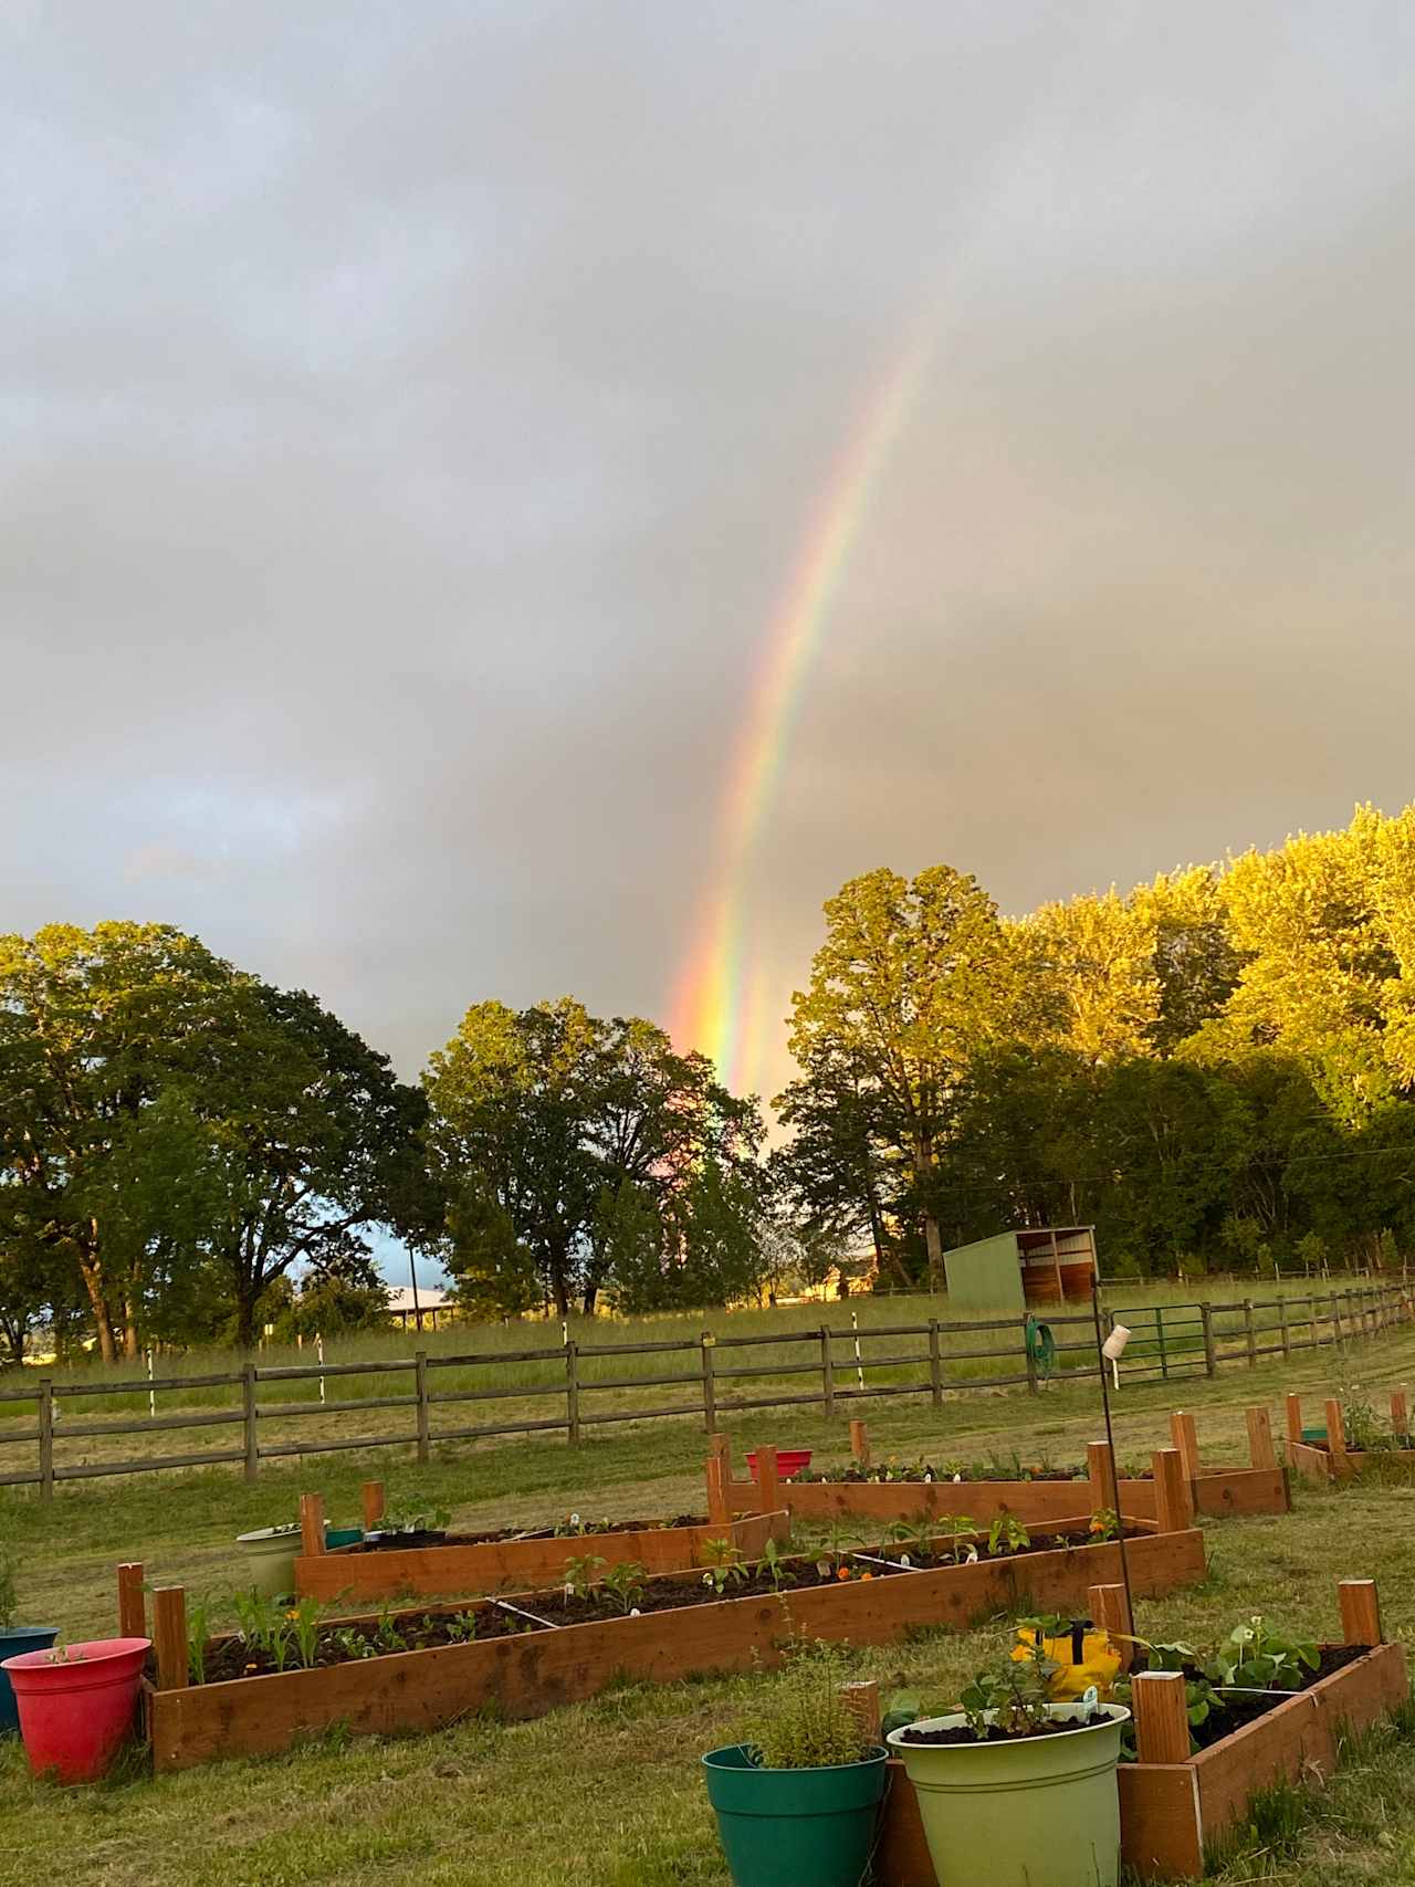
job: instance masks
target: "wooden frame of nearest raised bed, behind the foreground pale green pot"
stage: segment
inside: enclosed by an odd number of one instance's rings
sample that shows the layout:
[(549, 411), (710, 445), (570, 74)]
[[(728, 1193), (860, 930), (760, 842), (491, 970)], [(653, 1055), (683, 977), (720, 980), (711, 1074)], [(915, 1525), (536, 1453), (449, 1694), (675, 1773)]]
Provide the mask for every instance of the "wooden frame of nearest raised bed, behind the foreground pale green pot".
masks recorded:
[[(1375, 1647), (1198, 1755), (1189, 1755), (1183, 1678), (1136, 1678), (1140, 1761), (1123, 1762), (1117, 1781), (1121, 1857), (1141, 1879), (1200, 1876), (1204, 1849), (1241, 1827), (1258, 1789), (1330, 1776), (1341, 1734), (1368, 1728), (1409, 1696), (1404, 1647), (1379, 1644), (1375, 1585), (1347, 1579), (1338, 1591), (1343, 1644)], [(1092, 1593), (1090, 1610), (1102, 1615), (1102, 1595)], [(891, 1759), (889, 1770), (875, 1887), (938, 1887), (913, 1785), (902, 1762)]]

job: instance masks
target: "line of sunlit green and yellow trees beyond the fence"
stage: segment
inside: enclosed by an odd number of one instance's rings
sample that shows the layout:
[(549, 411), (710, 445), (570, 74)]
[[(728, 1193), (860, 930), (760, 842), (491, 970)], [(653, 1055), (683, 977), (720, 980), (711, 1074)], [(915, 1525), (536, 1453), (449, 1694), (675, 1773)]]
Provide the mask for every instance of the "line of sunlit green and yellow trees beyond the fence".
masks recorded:
[(1098, 1228), (1109, 1276), (1392, 1262), (1415, 1234), (1415, 810), (1004, 917), (951, 866), (824, 906), (768, 1149), (638, 1017), (474, 1004), (417, 1083), (164, 925), (0, 938), (0, 1340), (106, 1359), (383, 1317), (730, 1304), (872, 1253)]

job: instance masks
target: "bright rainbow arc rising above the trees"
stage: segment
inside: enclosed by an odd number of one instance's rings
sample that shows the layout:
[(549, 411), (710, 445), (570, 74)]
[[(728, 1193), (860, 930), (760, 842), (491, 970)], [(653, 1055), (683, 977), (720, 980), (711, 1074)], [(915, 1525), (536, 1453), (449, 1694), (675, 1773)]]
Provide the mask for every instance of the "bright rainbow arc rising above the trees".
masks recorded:
[(907, 423), (934, 353), (924, 321), (891, 362), (851, 430), (824, 496), (802, 538), (781, 602), (762, 638), (741, 732), (717, 817), (713, 872), (670, 1008), (679, 1047), (702, 1049), (736, 1093), (762, 1074), (770, 974), (751, 934), (757, 851), (781, 785), (830, 606), (849, 566), (870, 502)]

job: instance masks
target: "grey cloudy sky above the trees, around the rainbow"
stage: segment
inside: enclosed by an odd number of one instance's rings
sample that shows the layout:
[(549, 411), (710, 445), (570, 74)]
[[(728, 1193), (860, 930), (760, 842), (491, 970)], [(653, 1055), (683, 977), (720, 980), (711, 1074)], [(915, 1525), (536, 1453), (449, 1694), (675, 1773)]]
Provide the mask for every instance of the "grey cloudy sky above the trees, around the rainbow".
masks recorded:
[(734, 885), (757, 1081), (855, 872), (1396, 810), (1413, 75), (1330, 0), (9, 0), (0, 927), (177, 923), (409, 1076), (666, 1017), (909, 349)]

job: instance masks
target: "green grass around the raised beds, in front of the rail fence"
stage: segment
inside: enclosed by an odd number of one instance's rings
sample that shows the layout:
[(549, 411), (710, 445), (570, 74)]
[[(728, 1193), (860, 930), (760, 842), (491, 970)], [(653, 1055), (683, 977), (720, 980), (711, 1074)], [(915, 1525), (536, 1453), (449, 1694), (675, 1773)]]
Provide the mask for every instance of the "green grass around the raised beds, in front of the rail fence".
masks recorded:
[[(896, 1308), (898, 1310), (898, 1308)], [(817, 1317), (819, 1321), (819, 1317)], [(906, 1319), (907, 1321), (907, 1319)], [(1243, 1459), (1243, 1408), (1266, 1402), (1281, 1432), (1279, 1396), (1340, 1383), (1368, 1391), (1415, 1374), (1415, 1330), (1343, 1353), (1307, 1351), (1287, 1366), (1264, 1361), (1217, 1379), (1124, 1387), (1117, 1417), (1123, 1457), (1168, 1440), (1179, 1400), (1200, 1415), (1213, 1459)], [(934, 1411), (926, 1400), (870, 1404), (875, 1453), (898, 1449), (985, 1457), (1013, 1447), (1055, 1462), (1083, 1457), (1098, 1417), (1094, 1391), (1058, 1381), (1041, 1396), (974, 1394)], [(843, 1413), (743, 1415), (736, 1449), (807, 1444), (821, 1459), (847, 1453)], [(379, 1474), (391, 1498), (428, 1498), (458, 1523), (523, 1523), (570, 1508), (609, 1515), (702, 1510), (702, 1428), (687, 1421), (624, 1423), (579, 1449), (523, 1438), (475, 1451), (436, 1449), (417, 1466), (402, 1453), (323, 1457), (262, 1466), (247, 1487), (226, 1472), (170, 1474), (60, 1487), (51, 1504), (11, 1493), (0, 1530), (23, 1553), (21, 1611), (68, 1636), (113, 1628), (113, 1566), (142, 1559), (149, 1579), (181, 1579), (209, 1595), (215, 1615), (228, 1581), (234, 1532), (292, 1513), (302, 1489), (323, 1489), (332, 1517), (357, 1511), (358, 1481)], [(1141, 1604), (1149, 1636), (1211, 1640), (1249, 1611), (1336, 1634), (1336, 1579), (1375, 1576), (1387, 1628), (1415, 1627), (1415, 1489), (1296, 1489), (1285, 1517), (1209, 1523), (1211, 1576), (1198, 1591)], [(862, 1651), (862, 1676), (907, 1681), (926, 1700), (951, 1700), (958, 1679), (1009, 1642), (1004, 1621), (972, 1634)], [(328, 1740), (264, 1762), (230, 1762), (158, 1781), (130, 1776), (100, 1789), (55, 1791), (28, 1781), (15, 1747), (0, 1755), (0, 1883), (28, 1887), (62, 1866), (74, 1887), (294, 1887), (377, 1878), (389, 1887), (724, 1887), (698, 1755), (732, 1736), (753, 1685), (770, 1678), (691, 1685), (626, 1685), (538, 1723), (472, 1721), (430, 1738)], [(1275, 1836), (1275, 1840), (1274, 1840)], [(1377, 1736), (1321, 1796), (1279, 1802), (1226, 1883), (1289, 1887), (1415, 1883), (1415, 1742)]]

